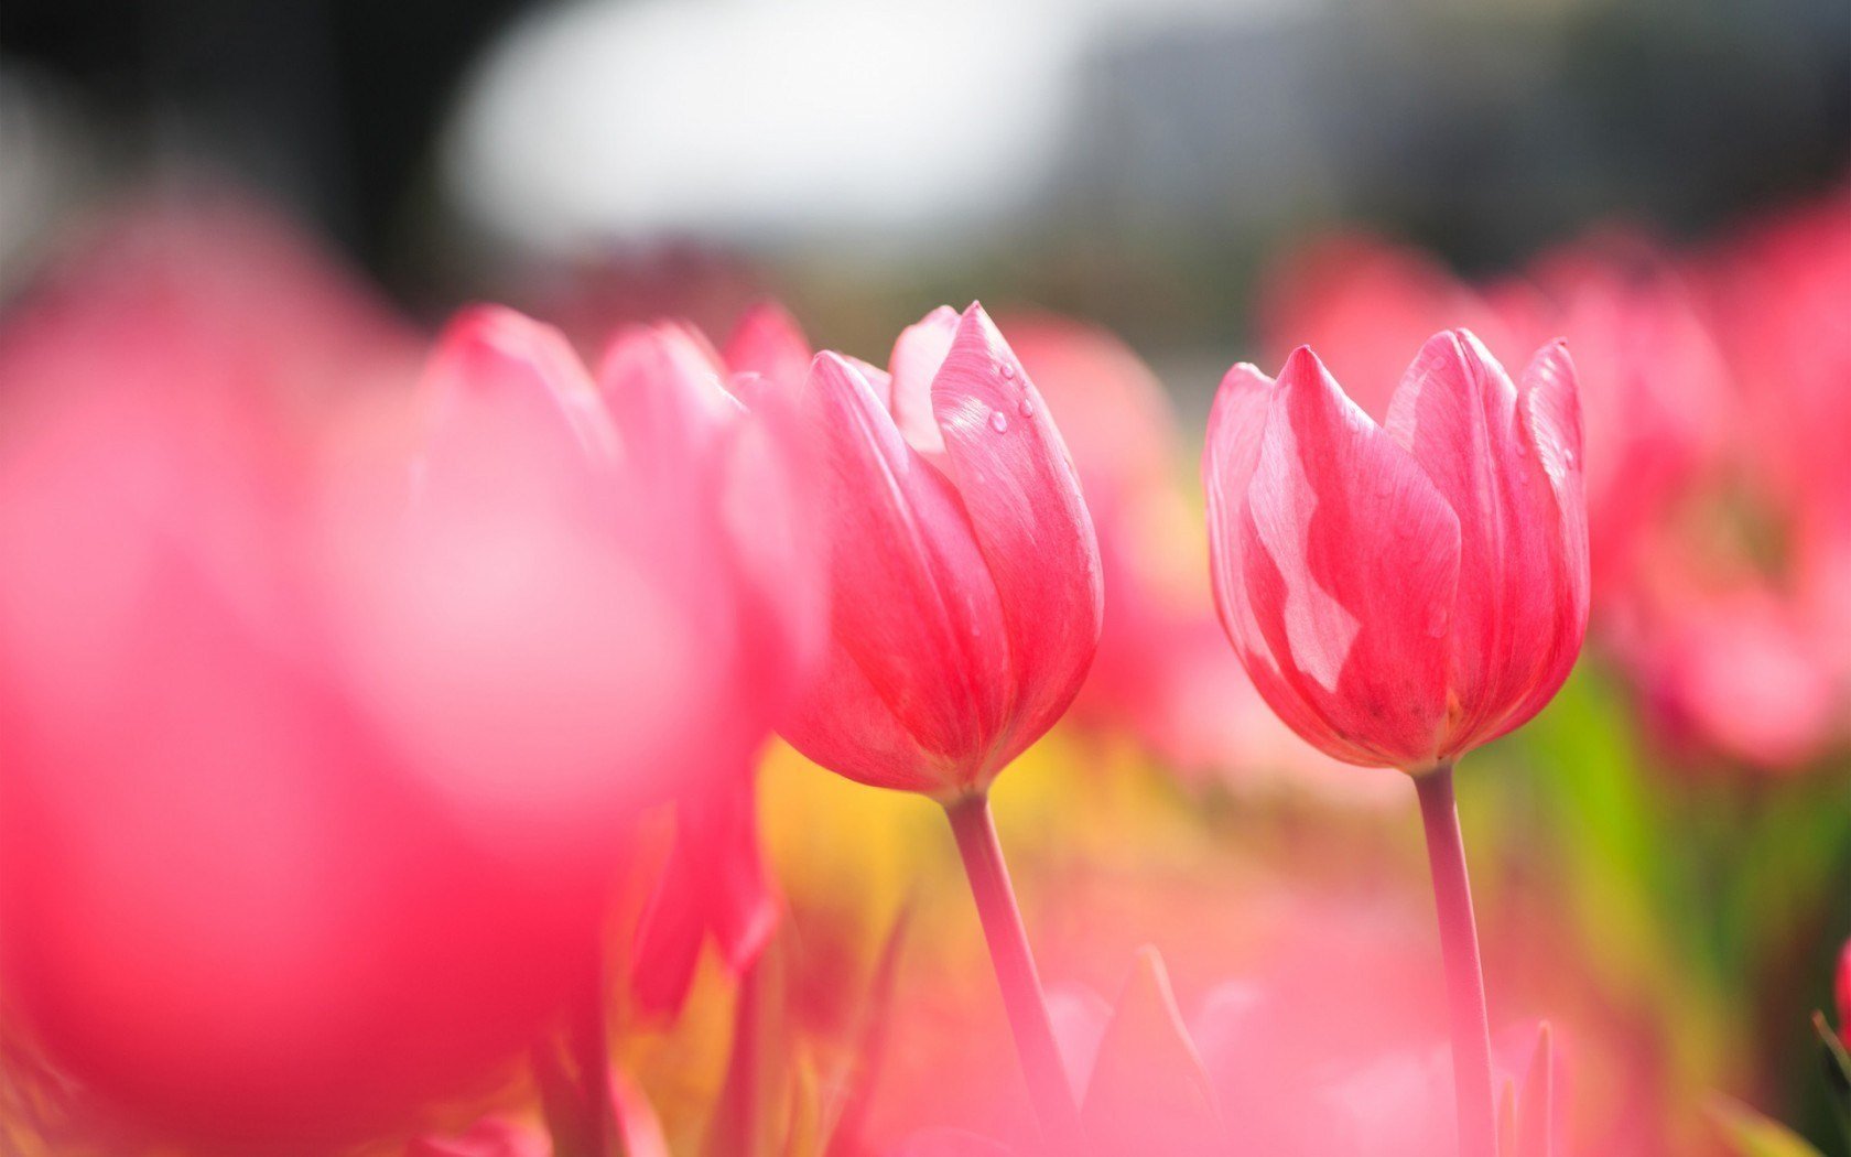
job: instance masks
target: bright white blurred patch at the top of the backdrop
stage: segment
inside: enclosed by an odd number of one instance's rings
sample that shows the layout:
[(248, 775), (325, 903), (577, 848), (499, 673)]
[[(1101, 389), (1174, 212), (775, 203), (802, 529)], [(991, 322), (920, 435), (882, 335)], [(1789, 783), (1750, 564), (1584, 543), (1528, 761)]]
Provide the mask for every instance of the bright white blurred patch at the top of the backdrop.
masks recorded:
[(572, 0), (463, 89), (444, 180), (516, 244), (924, 239), (1020, 207), (1087, 52), (1279, 0)]

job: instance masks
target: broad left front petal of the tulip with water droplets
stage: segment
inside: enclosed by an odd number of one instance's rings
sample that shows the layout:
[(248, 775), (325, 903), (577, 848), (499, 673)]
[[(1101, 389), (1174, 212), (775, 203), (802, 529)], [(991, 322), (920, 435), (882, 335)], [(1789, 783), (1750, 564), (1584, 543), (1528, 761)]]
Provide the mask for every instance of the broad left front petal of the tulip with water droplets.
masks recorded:
[[(835, 354), (811, 367), (829, 463), (837, 646), (787, 728), (831, 770), (944, 787), (1001, 731), (1011, 687), (1003, 616), (951, 483), (900, 437), (866, 378)], [(844, 718), (853, 703), (857, 718)]]

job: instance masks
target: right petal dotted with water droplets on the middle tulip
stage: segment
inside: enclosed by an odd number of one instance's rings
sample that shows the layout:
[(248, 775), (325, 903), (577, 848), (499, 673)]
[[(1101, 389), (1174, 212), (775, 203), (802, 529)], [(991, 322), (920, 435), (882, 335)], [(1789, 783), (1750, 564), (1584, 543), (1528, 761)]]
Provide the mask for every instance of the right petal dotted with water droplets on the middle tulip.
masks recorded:
[(981, 305), (964, 311), (931, 402), (1014, 672), (996, 772), (1053, 726), (1087, 678), (1103, 615), (1099, 544), (1048, 405)]

